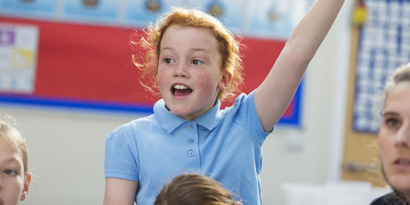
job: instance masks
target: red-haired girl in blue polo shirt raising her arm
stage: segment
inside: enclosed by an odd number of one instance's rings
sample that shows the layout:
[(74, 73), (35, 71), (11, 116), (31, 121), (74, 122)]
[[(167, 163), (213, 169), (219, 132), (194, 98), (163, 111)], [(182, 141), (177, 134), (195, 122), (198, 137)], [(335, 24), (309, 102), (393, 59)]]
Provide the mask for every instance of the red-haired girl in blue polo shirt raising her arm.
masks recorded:
[[(106, 141), (104, 204), (153, 204), (171, 173), (211, 173), (244, 199), (262, 204), (261, 148), (288, 107), (344, 0), (318, 0), (301, 19), (263, 83), (220, 110), (240, 83), (239, 43), (213, 16), (172, 8), (138, 45), (162, 99), (154, 114), (112, 131)], [(272, 59), (274, 61), (274, 59)], [(258, 65), (253, 65), (257, 69)], [(149, 88), (150, 85), (146, 85)]]

